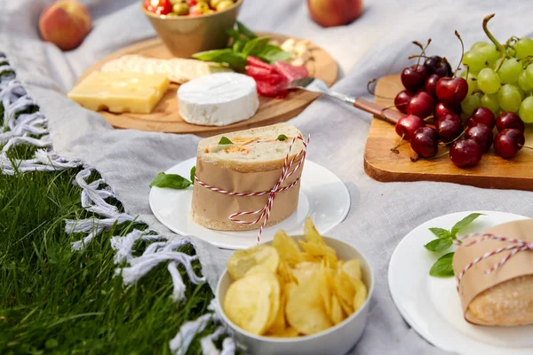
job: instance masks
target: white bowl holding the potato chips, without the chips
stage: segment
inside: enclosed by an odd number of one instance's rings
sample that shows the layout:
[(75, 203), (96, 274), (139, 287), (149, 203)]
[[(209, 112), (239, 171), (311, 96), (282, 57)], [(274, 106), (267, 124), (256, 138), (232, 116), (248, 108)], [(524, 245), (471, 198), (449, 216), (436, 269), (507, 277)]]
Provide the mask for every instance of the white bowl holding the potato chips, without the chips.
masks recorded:
[[(303, 239), (302, 236), (293, 238), (296, 240)], [(224, 304), (227, 288), (232, 283), (227, 270), (225, 270), (219, 280), (216, 292), (220, 314), (227, 325), (233, 329), (237, 340), (248, 348), (247, 353), (254, 355), (343, 355), (352, 349), (355, 343), (361, 338), (364, 327), (367, 324), (370, 299), (374, 292), (374, 273), (372, 272), (368, 259), (361, 252), (343, 241), (327, 237), (323, 237), (323, 239), (331, 248), (337, 250), (339, 259), (349, 260), (357, 258), (361, 261), (362, 280), (369, 291), (365, 303), (362, 304), (357, 312), (354, 312), (343, 322), (315, 335), (295, 338), (274, 338), (253, 335), (237, 327), (235, 323), (227, 318), (224, 311), (222, 311), (222, 304)], [(265, 244), (271, 244), (271, 242)]]

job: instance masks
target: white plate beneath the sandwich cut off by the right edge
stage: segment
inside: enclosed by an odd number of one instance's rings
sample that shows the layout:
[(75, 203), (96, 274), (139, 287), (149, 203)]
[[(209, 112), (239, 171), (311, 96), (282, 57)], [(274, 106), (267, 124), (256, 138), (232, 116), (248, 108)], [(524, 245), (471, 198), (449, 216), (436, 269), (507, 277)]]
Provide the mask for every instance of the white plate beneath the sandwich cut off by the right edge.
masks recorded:
[[(486, 216), (478, 217), (461, 230), (461, 235), (528, 218), (505, 212), (475, 212)], [(455, 278), (429, 276), (429, 269), (438, 257), (424, 248), (428, 241), (435, 238), (428, 228), (441, 227), (449, 230), (470, 213), (473, 212), (458, 212), (434, 218), (419, 225), (400, 241), (388, 270), (389, 288), (394, 303), (419, 335), (445, 351), (461, 355), (531, 355), (533, 326), (474, 326), (463, 318)]]

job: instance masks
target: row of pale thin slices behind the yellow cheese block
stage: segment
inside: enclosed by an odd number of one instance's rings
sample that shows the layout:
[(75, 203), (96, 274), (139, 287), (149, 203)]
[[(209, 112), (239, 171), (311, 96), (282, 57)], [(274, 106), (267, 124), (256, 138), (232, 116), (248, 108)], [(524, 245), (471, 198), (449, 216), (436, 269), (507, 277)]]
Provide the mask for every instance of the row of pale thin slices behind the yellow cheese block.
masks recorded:
[(127, 54), (109, 60), (101, 69), (104, 72), (130, 72), (140, 74), (165, 74), (172, 83), (187, 83), (203, 75), (231, 72), (228, 67), (197, 59), (157, 59), (137, 54)]

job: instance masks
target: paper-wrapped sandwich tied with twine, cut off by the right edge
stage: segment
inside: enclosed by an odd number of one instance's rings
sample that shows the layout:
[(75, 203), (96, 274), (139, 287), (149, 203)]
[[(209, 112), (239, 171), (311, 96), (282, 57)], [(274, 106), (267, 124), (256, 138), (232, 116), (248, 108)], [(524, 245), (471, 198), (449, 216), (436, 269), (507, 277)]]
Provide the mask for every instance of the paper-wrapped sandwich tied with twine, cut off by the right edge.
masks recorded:
[[(532, 231), (533, 219), (505, 223), (474, 234), (457, 248), (453, 269), (468, 322), (533, 324)], [(497, 253), (500, 248), (505, 251)]]

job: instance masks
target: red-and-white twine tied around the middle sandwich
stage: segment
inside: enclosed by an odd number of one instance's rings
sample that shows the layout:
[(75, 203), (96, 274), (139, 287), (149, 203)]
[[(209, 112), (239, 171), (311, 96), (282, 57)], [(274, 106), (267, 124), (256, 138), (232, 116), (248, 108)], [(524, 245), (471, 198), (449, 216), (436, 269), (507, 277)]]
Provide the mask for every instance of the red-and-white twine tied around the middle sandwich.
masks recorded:
[[(307, 144), (309, 144), (309, 139), (310, 138), (311, 138), (310, 136), (308, 136), (307, 139), (304, 139), (303, 137), (297, 136), (297, 137), (292, 139), (292, 142), (290, 142), (289, 151), (287, 152), (287, 155), (285, 155), (285, 162), (283, 163), (282, 176), (278, 179), (278, 181), (274, 185), (274, 187), (271, 190), (269, 190), (269, 191), (263, 191), (263, 192), (260, 192), (260, 193), (234, 193), (234, 192), (231, 192), (231, 191), (226, 191), (226, 190), (219, 189), (218, 187), (207, 185), (202, 180), (200, 180), (198, 178), (198, 176), (195, 176), (195, 181), (199, 185), (202, 185), (203, 187), (208, 188), (211, 191), (215, 191), (217, 193), (229, 194), (231, 196), (263, 196), (263, 195), (267, 194), (268, 195), (267, 204), (262, 209), (258, 209), (258, 210), (255, 210), (255, 211), (236, 212), (236, 213), (231, 214), (228, 217), (230, 221), (238, 223), (238, 224), (241, 224), (241, 225), (256, 225), (256, 224), (259, 223), (259, 221), (261, 219), (265, 218), (263, 220), (263, 224), (259, 228), (258, 240), (257, 240), (257, 243), (259, 244), (259, 241), (261, 241), (261, 234), (263, 233), (263, 228), (265, 227), (265, 225), (267, 225), (268, 219), (270, 218), (270, 211), (272, 210), (272, 207), (274, 205), (274, 199), (275, 199), (276, 193), (281, 193), (282, 191), (289, 190), (292, 186), (297, 185), (299, 180), (300, 180), (301, 176), (298, 177), (296, 180), (294, 180), (294, 182), (291, 183), (290, 185), (287, 185), (285, 187), (280, 187), (283, 184), (283, 182), (287, 178), (289, 178), (292, 174), (294, 174), (296, 172), (296, 170), (298, 170), (298, 168), (306, 160)], [(290, 161), (289, 161), (290, 151), (292, 150), (292, 146), (294, 146), (294, 143), (296, 143), (297, 140), (301, 140), (303, 145), (304, 145), (304, 147), (302, 148), (302, 150), (300, 150), (298, 152), (298, 154), (294, 155), (292, 157), (292, 159), (290, 159)], [(302, 158), (296, 164), (294, 169), (291, 169), (300, 156)], [(251, 221), (251, 222), (243, 221), (242, 219), (237, 218), (237, 217), (241, 217), (241, 216), (251, 216), (251, 215), (259, 215), (259, 217), (257, 217), (257, 219), (255, 221)]]

